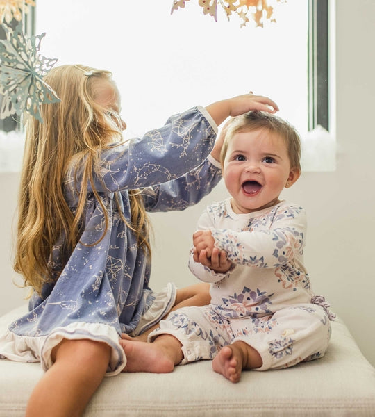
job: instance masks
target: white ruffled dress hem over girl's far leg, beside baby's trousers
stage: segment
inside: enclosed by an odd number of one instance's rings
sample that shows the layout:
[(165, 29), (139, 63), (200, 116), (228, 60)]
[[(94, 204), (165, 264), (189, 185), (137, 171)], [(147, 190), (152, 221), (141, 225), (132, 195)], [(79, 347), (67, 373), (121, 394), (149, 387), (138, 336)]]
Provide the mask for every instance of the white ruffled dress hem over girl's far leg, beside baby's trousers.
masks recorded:
[(138, 336), (156, 325), (174, 306), (176, 302), (177, 288), (169, 282), (162, 291), (154, 293), (155, 300), (150, 308), (142, 315), (138, 326), (131, 333), (131, 336)]

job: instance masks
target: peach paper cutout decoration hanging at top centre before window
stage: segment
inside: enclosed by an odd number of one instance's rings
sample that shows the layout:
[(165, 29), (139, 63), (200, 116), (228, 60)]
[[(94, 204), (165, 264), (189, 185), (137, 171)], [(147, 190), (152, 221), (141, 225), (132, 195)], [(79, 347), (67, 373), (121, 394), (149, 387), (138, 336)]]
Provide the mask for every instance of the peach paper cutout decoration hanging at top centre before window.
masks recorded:
[[(174, 0), (171, 13), (178, 8), (184, 8), (185, 2), (190, 0)], [(203, 8), (205, 15), (217, 19), (217, 3), (222, 6), (228, 20), (233, 13), (242, 19), (241, 26), (250, 22), (250, 18), (256, 26), (263, 27), (265, 21), (276, 22), (274, 17), (274, 3), (286, 3), (287, 0), (199, 0), (199, 6)]]

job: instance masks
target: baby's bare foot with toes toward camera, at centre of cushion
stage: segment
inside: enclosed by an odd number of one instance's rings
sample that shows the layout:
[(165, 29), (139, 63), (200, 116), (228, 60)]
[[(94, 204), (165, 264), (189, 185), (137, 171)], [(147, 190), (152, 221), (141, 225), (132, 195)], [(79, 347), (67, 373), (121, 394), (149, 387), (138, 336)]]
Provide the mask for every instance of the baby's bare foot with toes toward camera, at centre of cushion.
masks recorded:
[(240, 381), (242, 369), (260, 368), (262, 365), (260, 354), (243, 341), (224, 346), (213, 359), (213, 370), (231, 382)]

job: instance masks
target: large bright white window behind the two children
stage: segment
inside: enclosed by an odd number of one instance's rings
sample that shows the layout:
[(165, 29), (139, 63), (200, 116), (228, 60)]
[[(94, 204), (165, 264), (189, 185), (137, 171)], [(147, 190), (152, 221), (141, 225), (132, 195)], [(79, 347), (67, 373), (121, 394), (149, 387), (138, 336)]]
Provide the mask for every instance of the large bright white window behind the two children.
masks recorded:
[[(317, 76), (306, 54), (308, 25), (322, 18), (324, 8), (314, 21), (308, 15), (314, 4), (326, 1), (275, 2), (277, 24), (256, 28), (240, 27), (236, 17), (228, 22), (219, 7), (215, 22), (196, 0), (172, 15), (172, 0), (107, 0), (105, 6), (101, 0), (38, 0), (35, 33), (47, 33), (41, 54), (58, 58), (57, 65), (83, 63), (113, 72), (126, 137), (140, 136), (196, 104), (252, 90), (274, 99), (279, 115), (305, 138), (320, 123), (314, 111), (322, 97), (321, 90), (313, 95), (316, 88), (308, 89), (308, 74)], [(310, 51), (321, 48), (313, 46)]]

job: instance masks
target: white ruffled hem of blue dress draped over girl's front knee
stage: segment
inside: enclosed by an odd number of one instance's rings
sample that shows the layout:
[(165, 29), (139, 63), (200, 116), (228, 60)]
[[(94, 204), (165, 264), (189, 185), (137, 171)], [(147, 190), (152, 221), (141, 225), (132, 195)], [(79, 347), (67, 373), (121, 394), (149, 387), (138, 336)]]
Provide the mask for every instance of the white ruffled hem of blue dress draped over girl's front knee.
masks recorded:
[(110, 363), (106, 376), (117, 375), (126, 366), (126, 356), (119, 344), (119, 335), (114, 327), (100, 323), (76, 322), (66, 327), (57, 327), (47, 336), (18, 336), (8, 330), (0, 337), (0, 357), (12, 361), (41, 362), (47, 370), (53, 364), (51, 352), (63, 339), (104, 342), (110, 345)]

